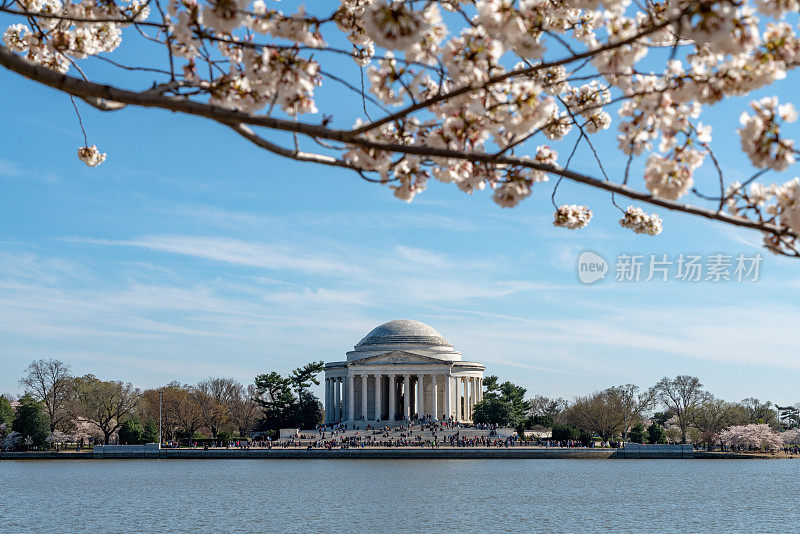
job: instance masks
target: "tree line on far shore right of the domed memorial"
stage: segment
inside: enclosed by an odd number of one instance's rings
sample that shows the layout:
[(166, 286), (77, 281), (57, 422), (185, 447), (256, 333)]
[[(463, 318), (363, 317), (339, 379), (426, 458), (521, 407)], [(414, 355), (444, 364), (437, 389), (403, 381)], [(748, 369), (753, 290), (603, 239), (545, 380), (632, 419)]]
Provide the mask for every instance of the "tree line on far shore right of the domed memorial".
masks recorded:
[(756, 398), (729, 402), (706, 391), (697, 377), (689, 375), (665, 377), (647, 389), (612, 386), (571, 402), (542, 395), (526, 399), (525, 388), (500, 383), (496, 376), (486, 377), (484, 387), (484, 399), (474, 409), (476, 423), (510, 426), (518, 433), (550, 430), (552, 439), (559, 441), (669, 440), (714, 448), (723, 444), (731, 428), (800, 427), (800, 404), (776, 406)]

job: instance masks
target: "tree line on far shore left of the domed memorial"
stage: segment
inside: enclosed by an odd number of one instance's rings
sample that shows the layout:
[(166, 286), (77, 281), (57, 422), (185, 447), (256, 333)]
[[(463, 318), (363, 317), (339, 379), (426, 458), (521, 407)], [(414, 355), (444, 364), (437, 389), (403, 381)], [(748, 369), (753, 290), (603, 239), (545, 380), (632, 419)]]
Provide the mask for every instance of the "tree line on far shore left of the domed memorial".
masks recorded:
[(225, 443), (252, 432), (274, 437), (283, 427), (313, 428), (322, 422), (323, 405), (309, 388), (319, 384), (323, 365), (311, 362), (286, 377), (261, 374), (247, 386), (212, 377), (140, 390), (130, 382), (74, 376), (60, 360), (37, 360), (19, 380), (24, 394), (18, 400), (0, 396), (0, 442), (7, 450), (157, 442), (159, 422), (163, 441)]

